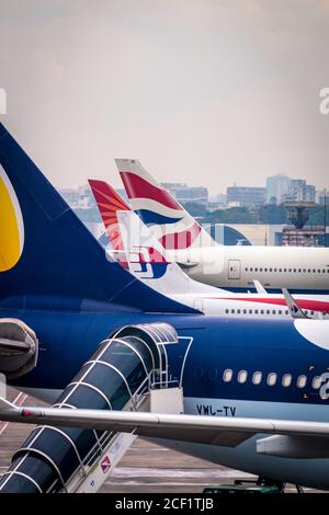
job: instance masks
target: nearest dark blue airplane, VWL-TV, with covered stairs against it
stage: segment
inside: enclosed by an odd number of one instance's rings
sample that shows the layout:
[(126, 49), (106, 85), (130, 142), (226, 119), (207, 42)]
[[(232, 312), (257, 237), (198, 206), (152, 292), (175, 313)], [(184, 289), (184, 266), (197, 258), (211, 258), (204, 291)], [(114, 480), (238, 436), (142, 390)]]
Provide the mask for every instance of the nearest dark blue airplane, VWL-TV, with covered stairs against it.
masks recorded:
[(2, 125), (0, 171), (0, 369), (56, 402), (0, 400), (0, 420), (42, 424), (0, 492), (91, 491), (135, 435), (329, 489), (328, 321), (200, 314), (109, 262)]

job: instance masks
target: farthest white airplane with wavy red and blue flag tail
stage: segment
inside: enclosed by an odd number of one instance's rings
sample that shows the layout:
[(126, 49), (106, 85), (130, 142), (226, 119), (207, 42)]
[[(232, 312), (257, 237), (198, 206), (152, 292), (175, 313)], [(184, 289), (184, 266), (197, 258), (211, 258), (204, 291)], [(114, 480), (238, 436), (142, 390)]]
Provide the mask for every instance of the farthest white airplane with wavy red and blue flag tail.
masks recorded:
[(329, 249), (300, 247), (218, 245), (137, 160), (116, 159), (133, 209), (194, 279), (232, 291), (329, 293)]

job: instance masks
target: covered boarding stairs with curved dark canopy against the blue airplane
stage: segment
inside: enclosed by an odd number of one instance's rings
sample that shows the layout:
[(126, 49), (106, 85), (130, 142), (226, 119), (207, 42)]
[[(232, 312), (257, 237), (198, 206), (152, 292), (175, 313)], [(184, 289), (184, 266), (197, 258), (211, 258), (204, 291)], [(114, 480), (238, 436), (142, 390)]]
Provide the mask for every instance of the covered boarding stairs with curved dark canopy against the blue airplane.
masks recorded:
[[(166, 323), (129, 325), (104, 340), (54, 408), (183, 412), (178, 382), (169, 381)], [(36, 427), (0, 480), (0, 493), (97, 492), (136, 436), (72, 427)]]

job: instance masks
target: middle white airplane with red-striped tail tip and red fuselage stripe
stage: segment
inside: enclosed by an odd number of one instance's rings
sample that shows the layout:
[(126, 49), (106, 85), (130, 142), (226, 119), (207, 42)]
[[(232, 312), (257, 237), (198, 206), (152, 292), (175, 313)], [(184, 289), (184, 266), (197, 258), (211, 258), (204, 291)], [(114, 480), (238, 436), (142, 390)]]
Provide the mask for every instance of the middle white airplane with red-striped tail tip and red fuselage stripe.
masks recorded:
[[(288, 308), (283, 295), (269, 295), (264, 289), (234, 294), (193, 281), (175, 262), (166, 260), (161, 243), (112, 186), (97, 180), (89, 184), (112, 243), (110, 254), (151, 288), (206, 314), (291, 316), (294, 308)], [(296, 300), (304, 316), (329, 318), (328, 296), (299, 295)]]

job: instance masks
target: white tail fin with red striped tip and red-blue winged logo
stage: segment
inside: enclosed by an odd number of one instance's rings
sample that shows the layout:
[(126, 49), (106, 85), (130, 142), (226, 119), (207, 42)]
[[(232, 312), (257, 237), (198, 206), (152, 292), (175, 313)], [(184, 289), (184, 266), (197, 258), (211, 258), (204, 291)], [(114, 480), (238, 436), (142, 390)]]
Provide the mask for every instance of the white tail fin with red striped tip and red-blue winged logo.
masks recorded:
[[(166, 295), (214, 294), (218, 288), (197, 283), (177, 263), (169, 263), (163, 248), (115, 190), (103, 181), (89, 180), (106, 233), (117, 254), (125, 256), (131, 273), (151, 288)], [(114, 244), (113, 244), (114, 242)]]

